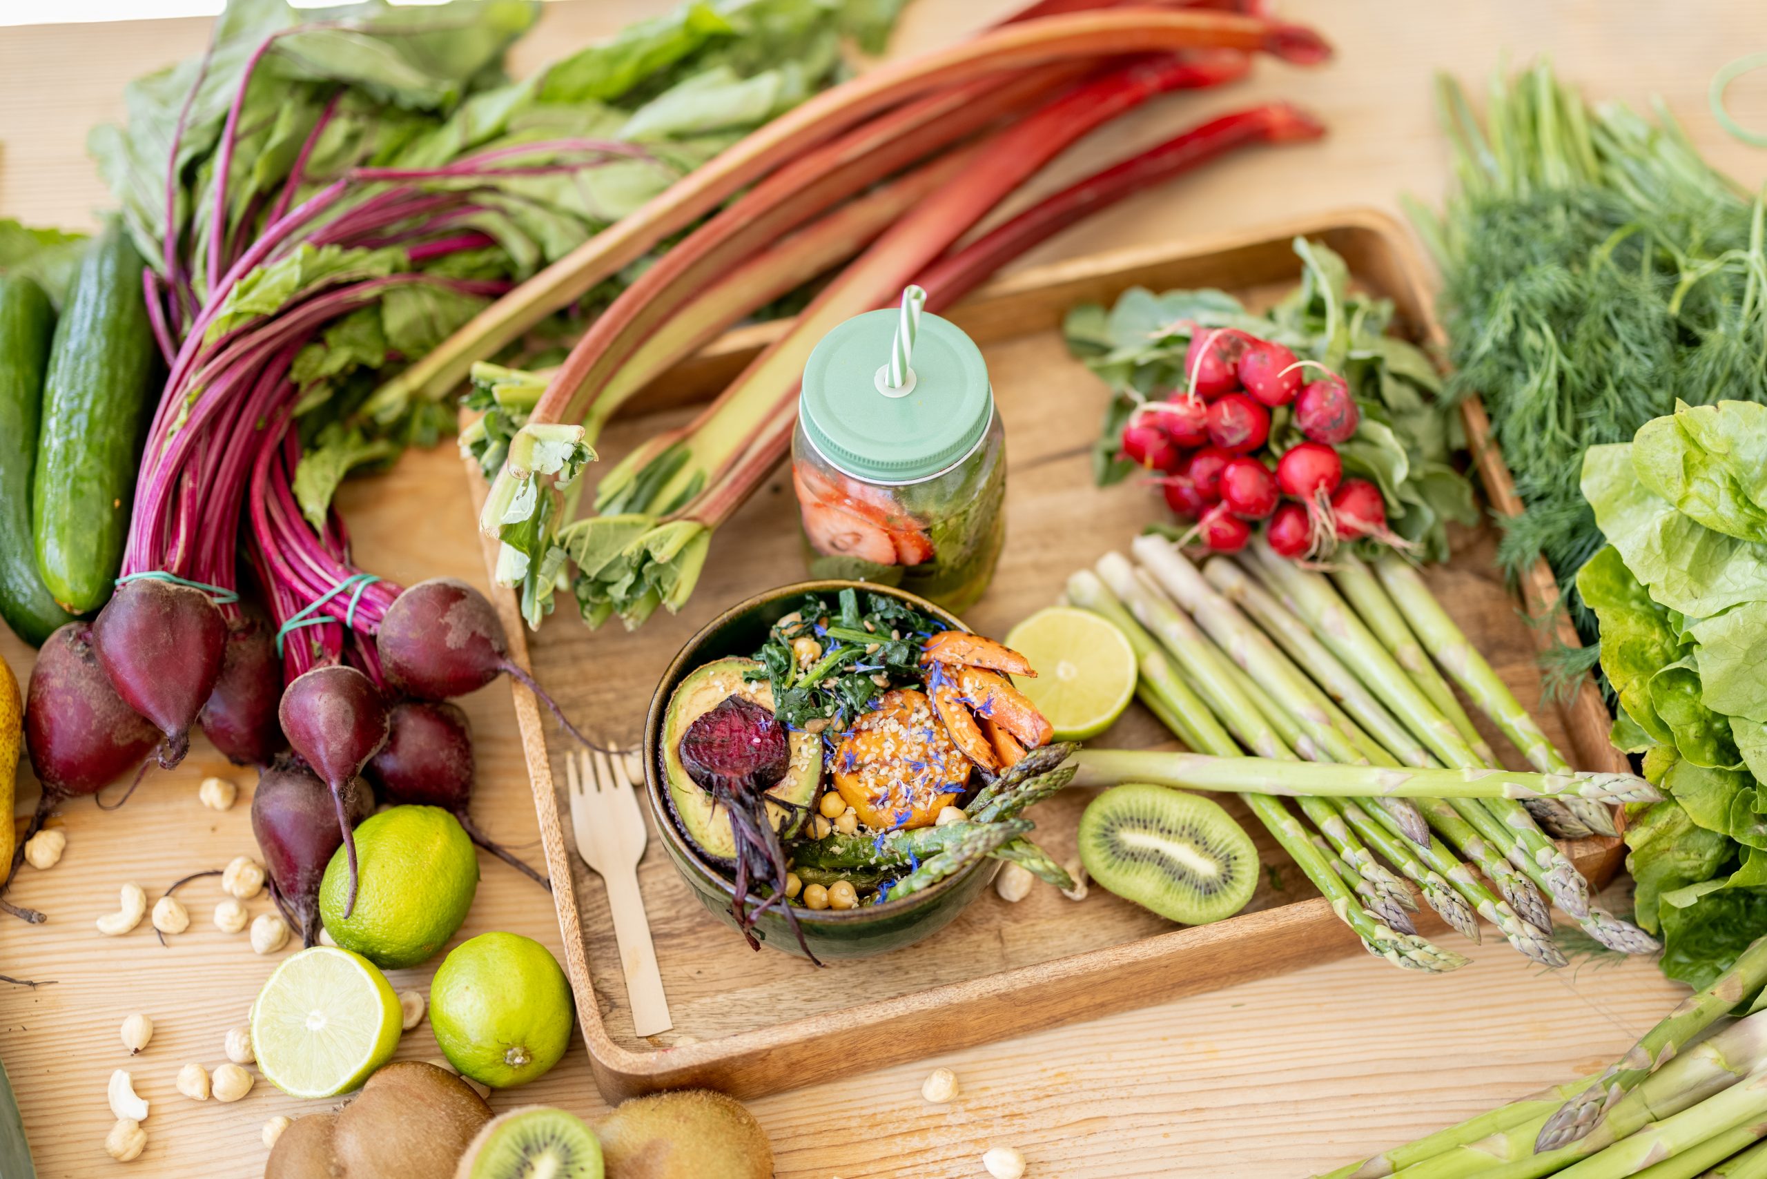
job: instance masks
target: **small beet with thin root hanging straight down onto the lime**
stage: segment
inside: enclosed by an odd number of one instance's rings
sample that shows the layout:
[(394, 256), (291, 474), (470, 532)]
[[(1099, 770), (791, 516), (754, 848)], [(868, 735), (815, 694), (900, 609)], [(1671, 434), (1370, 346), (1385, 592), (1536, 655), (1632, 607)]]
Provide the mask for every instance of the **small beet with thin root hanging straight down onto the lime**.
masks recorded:
[(299, 675), (277, 709), (288, 744), (330, 787), (337, 829), (350, 856), (350, 900), (343, 916), (355, 910), (355, 834), (346, 797), (368, 758), (387, 742), (387, 705), (375, 682), (352, 666), (330, 663)]

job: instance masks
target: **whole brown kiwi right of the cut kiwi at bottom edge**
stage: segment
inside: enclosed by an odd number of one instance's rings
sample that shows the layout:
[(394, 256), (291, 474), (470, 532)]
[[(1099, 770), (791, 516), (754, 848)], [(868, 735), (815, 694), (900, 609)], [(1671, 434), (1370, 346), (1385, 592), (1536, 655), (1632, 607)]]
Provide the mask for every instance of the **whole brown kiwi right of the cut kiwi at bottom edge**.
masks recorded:
[(595, 1133), (608, 1179), (772, 1179), (762, 1124), (710, 1089), (622, 1101)]

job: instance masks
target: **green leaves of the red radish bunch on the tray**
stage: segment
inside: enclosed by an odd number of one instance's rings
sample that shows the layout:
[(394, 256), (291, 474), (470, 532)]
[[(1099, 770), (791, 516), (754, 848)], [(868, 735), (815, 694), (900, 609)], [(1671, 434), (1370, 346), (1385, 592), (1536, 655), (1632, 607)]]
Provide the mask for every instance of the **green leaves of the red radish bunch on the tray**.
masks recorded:
[[(1392, 302), (1350, 292), (1350, 269), (1320, 242), (1295, 239), (1301, 285), (1269, 315), (1253, 315), (1221, 290), (1173, 290), (1163, 295), (1140, 286), (1110, 309), (1081, 304), (1067, 313), (1067, 346), (1103, 377), (1115, 396), (1092, 454), (1099, 484), (1136, 470), (1119, 456), (1129, 414), (1147, 399), (1166, 399), (1187, 382), (1184, 354), (1198, 329), (1237, 327), (1274, 339), (1301, 359), (1339, 373), (1355, 394), (1362, 421), (1355, 437), (1338, 445), (1346, 475), (1380, 488), (1394, 532), (1417, 543), (1417, 557), (1447, 559), (1445, 521), (1475, 523), (1472, 486), (1451, 460), (1463, 445), (1460, 417), (1437, 396), (1442, 380), (1414, 345), (1389, 336)], [(1302, 435), (1290, 408), (1272, 414), (1270, 449), (1285, 451)]]

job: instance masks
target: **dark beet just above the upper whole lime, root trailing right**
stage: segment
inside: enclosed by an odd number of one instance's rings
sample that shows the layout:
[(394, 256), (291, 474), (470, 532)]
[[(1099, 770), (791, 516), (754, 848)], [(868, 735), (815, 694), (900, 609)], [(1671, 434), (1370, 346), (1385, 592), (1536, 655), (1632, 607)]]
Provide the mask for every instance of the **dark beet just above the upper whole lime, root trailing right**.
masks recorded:
[[(368, 780), (394, 806), (440, 806), (474, 843), (544, 887), (551, 882), (488, 838), (466, 810), (472, 801), (472, 726), (459, 705), (406, 700), (387, 712), (387, 744), (368, 762)], [(336, 850), (336, 848), (332, 848)]]

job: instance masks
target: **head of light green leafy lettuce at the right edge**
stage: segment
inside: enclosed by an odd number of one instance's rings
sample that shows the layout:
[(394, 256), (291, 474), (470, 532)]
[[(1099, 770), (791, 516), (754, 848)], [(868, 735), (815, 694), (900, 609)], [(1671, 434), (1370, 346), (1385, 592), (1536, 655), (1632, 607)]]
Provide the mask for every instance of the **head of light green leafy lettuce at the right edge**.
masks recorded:
[(1705, 986), (1767, 933), (1767, 405), (1677, 405), (1590, 447), (1581, 490), (1613, 741), (1672, 795), (1626, 831), (1638, 921)]

